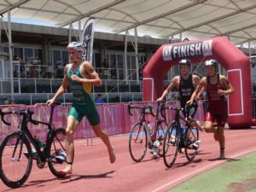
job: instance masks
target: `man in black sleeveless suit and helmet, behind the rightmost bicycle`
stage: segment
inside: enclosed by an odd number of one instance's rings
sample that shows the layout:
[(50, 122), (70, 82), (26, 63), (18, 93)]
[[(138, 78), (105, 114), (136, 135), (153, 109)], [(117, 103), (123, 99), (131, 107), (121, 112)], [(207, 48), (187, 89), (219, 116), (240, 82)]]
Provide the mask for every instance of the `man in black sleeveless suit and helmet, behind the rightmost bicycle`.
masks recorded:
[[(200, 78), (197, 75), (193, 75), (191, 73), (191, 61), (189, 59), (183, 59), (179, 61), (178, 64), (180, 75), (175, 76), (172, 79), (169, 86), (166, 88), (166, 90), (164, 90), (162, 96), (160, 96), (157, 101), (162, 101), (168, 92), (172, 91), (172, 89), (176, 87), (179, 93), (180, 106), (181, 108), (185, 108), (187, 102), (195, 90), (195, 87), (197, 84), (199, 84)], [(189, 117), (193, 118), (197, 109), (197, 102), (193, 102), (187, 109), (187, 112), (183, 112), (184, 116), (185, 113), (188, 113)]]

